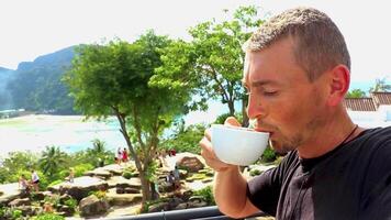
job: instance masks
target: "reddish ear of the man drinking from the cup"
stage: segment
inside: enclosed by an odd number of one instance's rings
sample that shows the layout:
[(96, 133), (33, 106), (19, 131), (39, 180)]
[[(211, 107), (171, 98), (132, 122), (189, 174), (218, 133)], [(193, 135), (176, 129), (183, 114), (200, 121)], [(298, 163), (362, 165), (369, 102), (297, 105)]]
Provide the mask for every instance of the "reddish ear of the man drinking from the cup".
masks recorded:
[(337, 65), (329, 72), (328, 106), (337, 106), (349, 89), (350, 72), (345, 65)]

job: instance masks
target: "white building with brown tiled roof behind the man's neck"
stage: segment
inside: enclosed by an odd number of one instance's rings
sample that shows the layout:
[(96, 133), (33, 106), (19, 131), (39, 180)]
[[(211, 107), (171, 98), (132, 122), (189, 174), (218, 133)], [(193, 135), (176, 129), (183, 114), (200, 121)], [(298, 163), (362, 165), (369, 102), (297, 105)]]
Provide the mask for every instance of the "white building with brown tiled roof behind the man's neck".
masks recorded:
[(369, 98), (345, 98), (353, 121), (365, 128), (391, 125), (391, 92), (371, 92)]

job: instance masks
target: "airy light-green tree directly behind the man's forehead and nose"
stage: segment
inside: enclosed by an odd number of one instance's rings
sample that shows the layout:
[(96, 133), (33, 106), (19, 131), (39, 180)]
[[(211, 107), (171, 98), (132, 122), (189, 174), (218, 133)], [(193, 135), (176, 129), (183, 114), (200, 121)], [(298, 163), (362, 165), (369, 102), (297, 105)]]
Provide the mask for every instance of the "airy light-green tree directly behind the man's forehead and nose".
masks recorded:
[(227, 105), (231, 116), (235, 114), (235, 101), (242, 101), (246, 124), (242, 46), (261, 23), (256, 14), (255, 7), (242, 7), (230, 21), (212, 20), (190, 29), (190, 43), (177, 41), (163, 52), (164, 66), (158, 73), (166, 80), (161, 81), (192, 87), (190, 90), (198, 91), (201, 102), (208, 98), (219, 99)]

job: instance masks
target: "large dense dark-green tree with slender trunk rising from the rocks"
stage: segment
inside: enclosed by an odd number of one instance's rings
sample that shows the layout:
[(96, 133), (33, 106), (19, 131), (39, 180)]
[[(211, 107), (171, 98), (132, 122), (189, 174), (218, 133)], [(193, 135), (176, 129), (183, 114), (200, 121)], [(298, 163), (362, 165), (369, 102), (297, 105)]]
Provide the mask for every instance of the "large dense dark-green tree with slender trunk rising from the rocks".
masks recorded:
[(159, 135), (182, 114), (190, 100), (181, 88), (153, 85), (149, 79), (161, 65), (159, 48), (169, 44), (153, 31), (130, 44), (120, 40), (78, 48), (69, 85), (75, 105), (87, 118), (114, 114), (130, 155), (139, 173), (143, 204), (150, 199), (148, 167), (153, 165)]

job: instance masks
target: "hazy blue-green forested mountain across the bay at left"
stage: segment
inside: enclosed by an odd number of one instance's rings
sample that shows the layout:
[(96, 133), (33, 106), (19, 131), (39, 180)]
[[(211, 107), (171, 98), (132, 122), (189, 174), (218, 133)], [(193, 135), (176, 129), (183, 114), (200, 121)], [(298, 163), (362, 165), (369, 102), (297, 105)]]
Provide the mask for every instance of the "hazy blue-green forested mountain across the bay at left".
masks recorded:
[(62, 76), (71, 66), (75, 46), (22, 62), (8, 82), (13, 108), (58, 114), (75, 113), (74, 101), (62, 82)]

